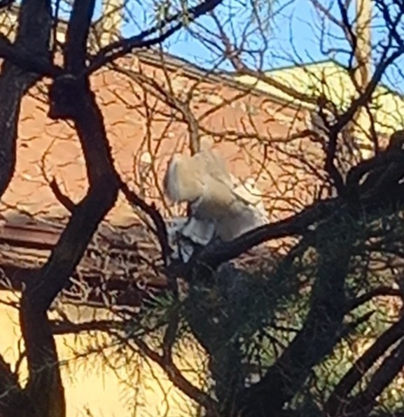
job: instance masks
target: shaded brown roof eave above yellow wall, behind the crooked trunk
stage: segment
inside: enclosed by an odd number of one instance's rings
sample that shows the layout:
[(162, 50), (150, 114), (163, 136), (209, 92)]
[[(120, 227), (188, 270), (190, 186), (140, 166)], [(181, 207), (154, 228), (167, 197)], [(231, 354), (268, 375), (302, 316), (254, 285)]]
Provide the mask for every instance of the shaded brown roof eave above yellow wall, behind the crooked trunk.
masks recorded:
[[(61, 232), (60, 225), (38, 222), (1, 225), (1, 273), (8, 279), (0, 280), (0, 290), (20, 290), (46, 262)], [(133, 234), (136, 239), (127, 241), (123, 229), (101, 225), (62, 299), (102, 306), (108, 297), (116, 306), (136, 307), (151, 294), (151, 288), (164, 288), (162, 262), (151, 236), (140, 222), (133, 227)]]

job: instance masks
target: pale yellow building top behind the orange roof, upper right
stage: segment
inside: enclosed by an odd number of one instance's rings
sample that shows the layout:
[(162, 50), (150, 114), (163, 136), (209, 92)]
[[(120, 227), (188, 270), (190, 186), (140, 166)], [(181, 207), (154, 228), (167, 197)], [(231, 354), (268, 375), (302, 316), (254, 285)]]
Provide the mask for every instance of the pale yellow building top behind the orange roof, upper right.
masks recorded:
[[(265, 75), (301, 94), (310, 96), (325, 94), (340, 108), (346, 108), (352, 97), (356, 95), (356, 89), (348, 71), (331, 60), (266, 71)], [(235, 76), (235, 78), (247, 85), (254, 85), (257, 90), (267, 92), (278, 99), (298, 104), (298, 101), (290, 95), (253, 76)], [(310, 106), (309, 104), (302, 105)], [(379, 85), (372, 96), (370, 110), (379, 134), (389, 135), (397, 129), (403, 129), (404, 99), (397, 92)]]

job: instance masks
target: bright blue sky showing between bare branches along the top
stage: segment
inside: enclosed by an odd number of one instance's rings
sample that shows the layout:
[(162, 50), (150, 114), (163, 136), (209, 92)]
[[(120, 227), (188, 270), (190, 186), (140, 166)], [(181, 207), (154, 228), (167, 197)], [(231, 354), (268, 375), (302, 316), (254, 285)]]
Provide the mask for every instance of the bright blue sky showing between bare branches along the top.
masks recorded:
[[(334, 24), (325, 22), (324, 26), (321, 25), (324, 21), (319, 17), (312, 2), (309, 0), (256, 0), (261, 6), (272, 1), (272, 11), (274, 12), (274, 18), (271, 22), (271, 27), (267, 28), (265, 36), (267, 37), (267, 48), (265, 51), (265, 60), (263, 64), (259, 65), (261, 69), (277, 69), (279, 67), (291, 66), (298, 63), (319, 62), (324, 59), (336, 59), (339, 62), (347, 63), (347, 53), (323, 53), (319, 47), (319, 37), (321, 35), (321, 29), (325, 29), (328, 33), (324, 41), (326, 48), (342, 49), (347, 48), (347, 43), (344, 41), (342, 31), (338, 29)], [(330, 6), (330, 10), (340, 19), (340, 13), (337, 7), (337, 1), (335, 0), (319, 0), (323, 6)], [(229, 4), (237, 4), (237, 0), (227, 0), (224, 2), (224, 6), (219, 6), (217, 9), (219, 16), (222, 16), (223, 20), (230, 13), (228, 8)], [(245, 1), (244, 3), (248, 3)], [(144, 18), (144, 24), (149, 24), (148, 20), (153, 19), (151, 14), (148, 13), (147, 2), (134, 3), (133, 14), (138, 20)], [(286, 5), (286, 6), (285, 6)], [(354, 17), (354, 0), (351, 1), (349, 9), (349, 17)], [(237, 38), (237, 30), (241, 34), (244, 30), (246, 20), (251, 17), (251, 10), (246, 10), (244, 6), (232, 6), (235, 8), (234, 16), (232, 17), (232, 23), (235, 27), (235, 36)], [(234, 11), (234, 10), (233, 10)], [(380, 19), (378, 10), (374, 10), (375, 18), (372, 22), (372, 41), (378, 43), (386, 37), (386, 27), (384, 21)], [(139, 19), (139, 17), (141, 17)], [(208, 30), (215, 30), (214, 24), (209, 17), (202, 17), (197, 21), (197, 24), (193, 24), (191, 29), (200, 31), (198, 25), (205, 27)], [(230, 24), (227, 24), (227, 29), (230, 33)], [(133, 33), (134, 27), (132, 24), (127, 26), (127, 34)], [(403, 28), (400, 29), (403, 33)], [(260, 43), (259, 36), (253, 36), (251, 34), (251, 43)], [(195, 62), (200, 66), (209, 66), (212, 62), (211, 51), (195, 37), (188, 34), (186, 31), (181, 31), (180, 34), (174, 35), (165, 43), (165, 46), (169, 52), (179, 57), (183, 57), (190, 62)], [(379, 52), (377, 48), (373, 51), (373, 58), (377, 60)], [(251, 66), (258, 66), (254, 62), (254, 57), (246, 56), (246, 62), (249, 62)], [(399, 64), (404, 64), (404, 60), (401, 60)], [(221, 69), (231, 70), (231, 66), (228, 63), (222, 64)], [(398, 92), (404, 92), (404, 77), (401, 76), (398, 69), (391, 68), (382, 80), (385, 85), (388, 85), (393, 90)]]

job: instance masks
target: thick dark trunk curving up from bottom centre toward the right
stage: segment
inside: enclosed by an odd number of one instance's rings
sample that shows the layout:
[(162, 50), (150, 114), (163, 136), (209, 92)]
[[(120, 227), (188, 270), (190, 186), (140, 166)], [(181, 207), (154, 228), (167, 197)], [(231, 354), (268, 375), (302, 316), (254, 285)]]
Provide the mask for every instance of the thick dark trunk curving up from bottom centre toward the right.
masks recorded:
[(280, 415), (312, 367), (333, 350), (344, 319), (344, 284), (355, 239), (354, 231), (343, 226), (346, 215), (335, 215), (319, 227), (319, 265), (305, 324), (265, 376), (239, 396), (241, 416)]

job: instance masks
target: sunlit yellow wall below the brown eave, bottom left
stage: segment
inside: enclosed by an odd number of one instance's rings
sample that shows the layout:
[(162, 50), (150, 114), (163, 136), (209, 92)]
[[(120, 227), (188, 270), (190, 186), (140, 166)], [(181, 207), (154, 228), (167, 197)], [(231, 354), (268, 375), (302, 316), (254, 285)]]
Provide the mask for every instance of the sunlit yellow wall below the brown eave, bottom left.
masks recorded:
[[(18, 359), (20, 330), (18, 311), (3, 304), (9, 299), (10, 293), (0, 292), (0, 353), (14, 367)], [(98, 332), (80, 337), (57, 336), (56, 341), (60, 360), (67, 361), (62, 366), (62, 379), (68, 417), (195, 415), (195, 404), (169, 383), (160, 367), (140, 358), (138, 354), (131, 355), (128, 351), (120, 354), (116, 353), (116, 348), (102, 351), (100, 346), (111, 343), (104, 334)], [(76, 358), (78, 353), (83, 354), (89, 350), (98, 353), (86, 358)], [(115, 369), (109, 367), (108, 363)], [(179, 366), (186, 369), (184, 375), (188, 380), (196, 385), (203, 383), (199, 381), (199, 376), (204, 379), (203, 358), (195, 345), (181, 353)], [(26, 376), (23, 366), (21, 380)], [(134, 388), (137, 388), (137, 392)], [(138, 405), (135, 407), (136, 402)]]

